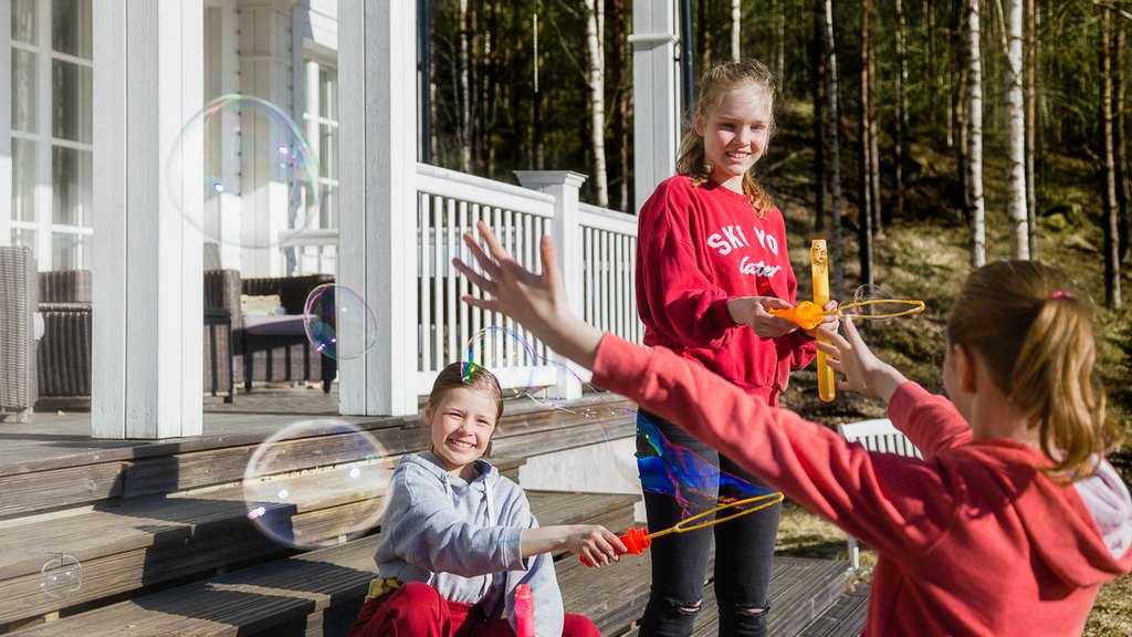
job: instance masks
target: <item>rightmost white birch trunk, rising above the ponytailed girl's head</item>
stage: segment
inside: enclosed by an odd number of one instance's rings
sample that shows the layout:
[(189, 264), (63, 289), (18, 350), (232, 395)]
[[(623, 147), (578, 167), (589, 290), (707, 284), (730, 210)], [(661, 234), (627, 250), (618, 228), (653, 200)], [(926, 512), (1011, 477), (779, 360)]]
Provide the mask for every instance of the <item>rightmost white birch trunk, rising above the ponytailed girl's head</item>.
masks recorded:
[(1022, 100), (1022, 0), (1006, 3), (1006, 62), (1010, 67), (1006, 93), (1010, 121), (1010, 180), (1006, 218), (1010, 219), (1011, 258), (1030, 258), (1029, 224), (1026, 213), (1026, 104)]

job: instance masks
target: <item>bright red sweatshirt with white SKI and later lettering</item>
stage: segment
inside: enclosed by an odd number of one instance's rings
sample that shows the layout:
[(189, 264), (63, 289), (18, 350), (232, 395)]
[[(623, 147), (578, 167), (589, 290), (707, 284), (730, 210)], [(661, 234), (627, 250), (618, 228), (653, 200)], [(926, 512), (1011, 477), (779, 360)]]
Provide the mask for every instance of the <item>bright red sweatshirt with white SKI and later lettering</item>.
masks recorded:
[(637, 220), (636, 295), (644, 343), (663, 347), (778, 405), (790, 371), (814, 358), (799, 332), (778, 339), (736, 325), (727, 301), (771, 296), (795, 301), (798, 282), (782, 213), (760, 219), (747, 196), (683, 175), (657, 186)]

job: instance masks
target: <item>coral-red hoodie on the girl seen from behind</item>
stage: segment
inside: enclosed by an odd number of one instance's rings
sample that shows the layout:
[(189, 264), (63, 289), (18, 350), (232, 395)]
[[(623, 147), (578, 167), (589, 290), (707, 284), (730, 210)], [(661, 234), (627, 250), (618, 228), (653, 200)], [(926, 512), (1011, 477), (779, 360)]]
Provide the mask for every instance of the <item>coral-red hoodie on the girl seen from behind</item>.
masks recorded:
[(901, 385), (889, 416), (924, 459), (873, 453), (662, 349), (607, 334), (595, 385), (679, 424), (880, 553), (866, 635), (1080, 635), (1132, 570), (1132, 499), (1108, 462), (1062, 486), (1038, 450), (971, 439), (946, 399)]

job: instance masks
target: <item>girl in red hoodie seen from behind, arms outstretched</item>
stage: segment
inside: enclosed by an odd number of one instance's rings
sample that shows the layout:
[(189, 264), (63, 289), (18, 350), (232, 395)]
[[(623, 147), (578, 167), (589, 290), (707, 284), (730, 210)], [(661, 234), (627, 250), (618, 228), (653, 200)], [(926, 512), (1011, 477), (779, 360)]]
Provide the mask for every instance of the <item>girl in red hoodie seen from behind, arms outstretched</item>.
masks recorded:
[(947, 321), (944, 385), (929, 394), (861, 341), (851, 318), (822, 350), (840, 387), (889, 402), (923, 452), (849, 444), (661, 348), (574, 317), (543, 238), (543, 274), (465, 240), (457, 267), (595, 385), (680, 423), (791, 499), (876, 547), (866, 635), (1080, 635), (1097, 592), (1132, 571), (1132, 499), (1105, 453), (1118, 442), (1094, 374), (1090, 308), (1035, 262), (971, 273)]

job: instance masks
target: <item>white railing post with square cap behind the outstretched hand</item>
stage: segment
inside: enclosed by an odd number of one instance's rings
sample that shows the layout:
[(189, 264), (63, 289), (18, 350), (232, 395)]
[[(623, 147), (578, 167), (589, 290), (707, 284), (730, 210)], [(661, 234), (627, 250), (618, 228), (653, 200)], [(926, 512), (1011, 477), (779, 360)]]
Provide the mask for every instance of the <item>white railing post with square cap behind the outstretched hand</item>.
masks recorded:
[[(550, 236), (555, 239), (556, 265), (566, 287), (569, 308), (583, 316), (582, 307), (582, 226), (578, 223), (578, 190), (585, 182), (585, 175), (569, 170), (516, 170), (515, 177), (524, 188), (546, 193), (555, 198), (555, 218), (550, 221)], [(589, 379), (589, 371), (555, 353), (552, 359), (574, 372), (573, 376), (560, 379), (555, 394), (563, 398), (582, 396), (578, 376)]]

